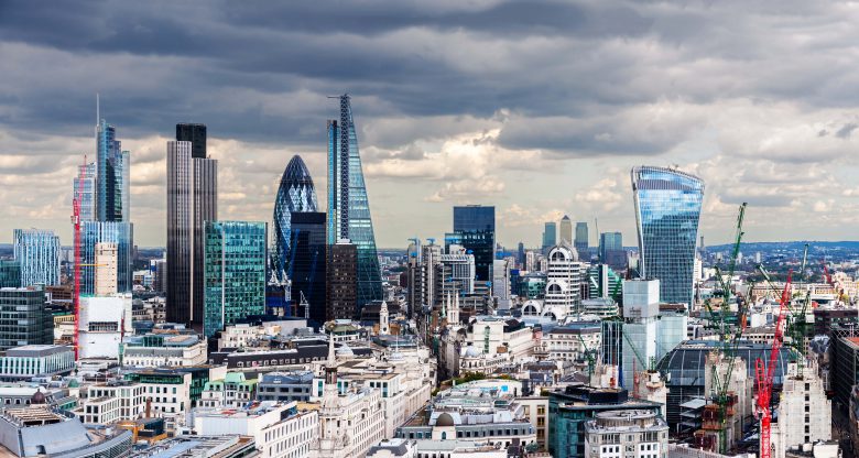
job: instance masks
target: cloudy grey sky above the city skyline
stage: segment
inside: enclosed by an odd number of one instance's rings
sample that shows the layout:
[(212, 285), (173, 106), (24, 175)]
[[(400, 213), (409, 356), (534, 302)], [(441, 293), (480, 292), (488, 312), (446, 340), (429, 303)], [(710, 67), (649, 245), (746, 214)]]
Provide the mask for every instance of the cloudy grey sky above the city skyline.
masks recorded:
[(856, 240), (859, 4), (773, 1), (0, 0), (0, 242), (72, 242), (101, 117), (131, 152), (141, 247), (165, 243), (166, 142), (208, 126), (219, 218), (270, 221), (294, 154), (325, 203), (348, 92), (377, 244), (494, 205), (498, 239), (568, 215), (634, 244), (634, 165), (706, 183), (699, 233)]

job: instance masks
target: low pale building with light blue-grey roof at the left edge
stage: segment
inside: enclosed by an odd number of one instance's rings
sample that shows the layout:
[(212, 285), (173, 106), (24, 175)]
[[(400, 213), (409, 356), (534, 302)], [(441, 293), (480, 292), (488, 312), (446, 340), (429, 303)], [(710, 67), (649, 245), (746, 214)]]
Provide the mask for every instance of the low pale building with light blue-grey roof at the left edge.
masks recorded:
[(75, 351), (63, 345), (13, 347), (0, 357), (0, 380), (4, 382), (66, 375), (74, 369)]

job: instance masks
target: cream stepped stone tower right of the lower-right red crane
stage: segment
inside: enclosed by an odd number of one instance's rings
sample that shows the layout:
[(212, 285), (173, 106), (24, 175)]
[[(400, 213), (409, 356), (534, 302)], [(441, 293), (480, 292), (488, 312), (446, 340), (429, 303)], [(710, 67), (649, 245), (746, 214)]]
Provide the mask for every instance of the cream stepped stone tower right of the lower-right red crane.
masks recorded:
[(779, 400), (778, 422), (772, 424), (774, 457), (794, 446), (833, 438), (833, 403), (826, 397), (816, 364), (787, 364), (787, 377)]

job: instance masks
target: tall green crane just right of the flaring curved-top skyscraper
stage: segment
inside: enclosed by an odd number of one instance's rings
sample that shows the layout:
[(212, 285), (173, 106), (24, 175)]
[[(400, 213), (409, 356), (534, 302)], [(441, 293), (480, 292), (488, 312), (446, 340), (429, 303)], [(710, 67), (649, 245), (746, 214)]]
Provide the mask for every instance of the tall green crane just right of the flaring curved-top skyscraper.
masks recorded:
[(711, 371), (713, 371), (713, 395), (711, 401), (714, 404), (718, 406), (718, 421), (721, 425), (719, 429), (719, 452), (727, 454), (728, 452), (728, 435), (727, 435), (727, 422), (728, 422), (728, 405), (730, 403), (730, 396), (728, 393), (728, 389), (730, 386), (731, 382), (731, 375), (733, 373), (733, 360), (737, 357), (737, 345), (739, 344), (740, 338), (742, 337), (742, 331), (744, 329), (744, 321), (746, 321), (746, 312), (742, 309), (741, 305), (737, 304), (737, 316), (738, 318), (738, 325), (735, 329), (735, 331), (731, 331), (731, 327), (728, 326), (726, 323), (726, 318), (728, 317), (728, 314), (730, 312), (730, 297), (731, 297), (731, 281), (733, 279), (733, 271), (737, 268), (737, 258), (740, 254), (740, 243), (742, 242), (742, 236), (744, 232), (742, 231), (742, 221), (746, 216), (746, 207), (747, 203), (742, 203), (740, 205), (739, 212), (737, 215), (737, 227), (733, 238), (733, 248), (731, 250), (731, 257), (728, 262), (728, 275), (727, 280), (725, 275), (721, 273), (721, 269), (717, 265), (716, 266), (716, 281), (719, 285), (719, 290), (721, 290), (721, 296), (722, 302), (719, 307), (719, 314), (718, 318), (715, 316), (716, 313), (714, 312), (713, 307), (709, 305), (709, 303), (705, 304), (707, 307), (707, 312), (710, 314), (710, 320), (717, 319), (718, 329), (719, 329), (719, 341), (721, 344), (721, 355), (725, 358), (727, 362), (727, 370), (725, 371), (725, 375), (720, 378), (718, 372), (718, 364), (713, 364)]

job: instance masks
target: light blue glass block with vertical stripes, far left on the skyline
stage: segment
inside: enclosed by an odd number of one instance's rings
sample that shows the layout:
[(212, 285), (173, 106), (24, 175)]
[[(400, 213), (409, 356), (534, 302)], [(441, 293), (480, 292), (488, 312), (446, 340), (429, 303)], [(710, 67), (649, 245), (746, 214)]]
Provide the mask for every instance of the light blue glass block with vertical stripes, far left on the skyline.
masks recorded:
[(53, 230), (15, 229), (12, 233), (15, 261), (21, 265), (21, 284), (59, 284), (59, 237)]

